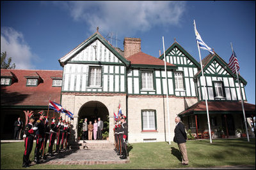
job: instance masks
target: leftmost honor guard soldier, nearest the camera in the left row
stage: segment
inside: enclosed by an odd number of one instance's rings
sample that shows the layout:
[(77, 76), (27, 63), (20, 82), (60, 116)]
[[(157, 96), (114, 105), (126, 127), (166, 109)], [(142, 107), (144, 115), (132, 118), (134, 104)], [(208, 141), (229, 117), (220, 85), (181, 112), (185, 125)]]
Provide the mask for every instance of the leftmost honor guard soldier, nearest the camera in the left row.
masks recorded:
[(29, 123), (25, 127), (25, 134), (23, 136), (24, 143), (25, 143), (25, 152), (23, 155), (22, 167), (29, 167), (29, 164), (31, 163), (31, 161), (29, 160), (29, 155), (33, 148), (35, 131), (38, 129), (38, 127), (33, 127), (33, 124), (35, 122), (35, 117), (33, 116), (33, 114), (28, 115), (28, 118), (29, 118)]

